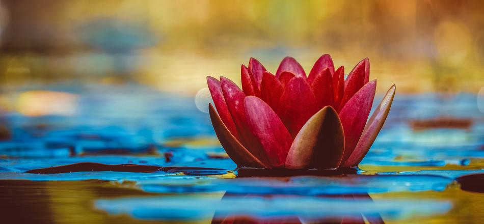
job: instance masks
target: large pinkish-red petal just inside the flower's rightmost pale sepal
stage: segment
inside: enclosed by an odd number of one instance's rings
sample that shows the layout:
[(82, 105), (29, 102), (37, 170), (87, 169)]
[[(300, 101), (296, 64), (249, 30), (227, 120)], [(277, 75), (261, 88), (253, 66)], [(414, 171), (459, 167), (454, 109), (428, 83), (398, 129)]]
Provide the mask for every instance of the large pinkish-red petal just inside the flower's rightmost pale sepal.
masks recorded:
[(346, 161), (360, 139), (366, 120), (370, 114), (371, 104), (375, 96), (377, 80), (372, 80), (363, 86), (341, 109), (339, 118), (343, 124), (345, 148), (343, 160)]

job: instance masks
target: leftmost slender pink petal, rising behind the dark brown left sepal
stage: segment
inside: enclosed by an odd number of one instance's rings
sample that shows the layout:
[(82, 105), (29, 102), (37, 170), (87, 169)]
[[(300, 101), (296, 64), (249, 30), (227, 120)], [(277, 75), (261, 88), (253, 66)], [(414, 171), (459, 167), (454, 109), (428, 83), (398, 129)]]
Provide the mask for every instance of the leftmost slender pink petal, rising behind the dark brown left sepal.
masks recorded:
[(235, 123), (232, 120), (232, 116), (230, 115), (227, 104), (225, 103), (224, 94), (222, 93), (222, 88), (220, 87), (220, 81), (216, 78), (207, 76), (207, 84), (210, 94), (212, 95), (213, 103), (215, 103), (215, 107), (217, 107), (217, 111), (219, 111), (222, 121), (224, 122), (225, 126), (227, 126), (227, 129), (229, 129), (230, 133), (232, 133), (235, 138), (239, 139)]

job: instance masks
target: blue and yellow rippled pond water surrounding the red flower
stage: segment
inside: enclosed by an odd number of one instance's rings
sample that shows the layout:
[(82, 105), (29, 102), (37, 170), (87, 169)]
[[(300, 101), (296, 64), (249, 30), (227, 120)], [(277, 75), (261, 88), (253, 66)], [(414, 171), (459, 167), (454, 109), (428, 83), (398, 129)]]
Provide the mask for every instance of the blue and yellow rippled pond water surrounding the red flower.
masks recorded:
[(192, 96), (136, 85), (47, 89), (24, 100), (68, 92), (60, 106), (69, 108), (2, 119), (11, 130), (0, 142), (4, 223), (484, 223), (476, 95), (397, 92), (357, 174), (237, 177)]

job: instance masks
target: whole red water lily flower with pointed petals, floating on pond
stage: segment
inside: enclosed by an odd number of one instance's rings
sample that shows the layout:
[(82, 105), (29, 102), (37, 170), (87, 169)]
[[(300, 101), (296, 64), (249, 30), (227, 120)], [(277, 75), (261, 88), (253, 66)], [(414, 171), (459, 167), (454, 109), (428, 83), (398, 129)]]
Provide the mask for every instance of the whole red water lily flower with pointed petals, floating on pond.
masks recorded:
[[(293, 58), (276, 74), (256, 59), (241, 66), (242, 89), (230, 79), (207, 77), (209, 104), (222, 147), (239, 167), (331, 169), (357, 166), (380, 132), (395, 95), (392, 86), (368, 115), (377, 80), (363, 59), (346, 79), (322, 55), (306, 76)], [(368, 120), (368, 122), (367, 122)]]

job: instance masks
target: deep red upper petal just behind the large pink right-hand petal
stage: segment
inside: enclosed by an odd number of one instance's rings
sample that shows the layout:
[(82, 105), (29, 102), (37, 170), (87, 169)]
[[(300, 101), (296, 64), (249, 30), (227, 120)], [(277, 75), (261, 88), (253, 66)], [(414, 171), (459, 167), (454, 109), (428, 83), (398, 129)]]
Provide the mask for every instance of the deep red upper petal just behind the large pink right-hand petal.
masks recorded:
[(341, 110), (346, 102), (358, 92), (361, 87), (365, 85), (365, 60), (362, 60), (358, 65), (349, 72), (348, 77), (344, 80), (344, 95), (340, 101), (339, 110)]

